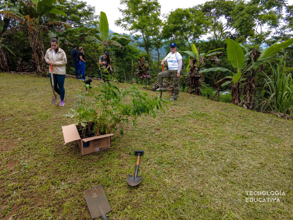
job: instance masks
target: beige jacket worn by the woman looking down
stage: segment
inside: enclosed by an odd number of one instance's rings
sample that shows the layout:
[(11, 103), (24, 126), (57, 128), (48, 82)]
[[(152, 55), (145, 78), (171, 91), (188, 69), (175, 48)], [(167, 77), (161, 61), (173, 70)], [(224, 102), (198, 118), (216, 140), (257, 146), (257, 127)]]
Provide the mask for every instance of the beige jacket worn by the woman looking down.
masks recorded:
[[(49, 61), (54, 61), (55, 65), (53, 65), (53, 74), (65, 75), (65, 65), (67, 64), (67, 58), (64, 50), (59, 48), (58, 52), (54, 55), (54, 60), (52, 59), (52, 48), (49, 48), (46, 51), (45, 60), (48, 63)], [(49, 72), (50, 68), (49, 68)]]

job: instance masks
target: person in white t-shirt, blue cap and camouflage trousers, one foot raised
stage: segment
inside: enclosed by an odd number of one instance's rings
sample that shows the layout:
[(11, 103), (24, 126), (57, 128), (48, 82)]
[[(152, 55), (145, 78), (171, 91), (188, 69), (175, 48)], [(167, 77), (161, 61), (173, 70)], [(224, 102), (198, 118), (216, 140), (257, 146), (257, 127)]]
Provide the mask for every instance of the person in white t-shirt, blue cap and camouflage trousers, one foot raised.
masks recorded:
[(164, 91), (163, 78), (167, 78), (171, 76), (171, 79), (173, 80), (173, 88), (174, 88), (174, 94), (172, 98), (170, 99), (171, 101), (177, 100), (177, 96), (179, 94), (180, 71), (182, 68), (182, 56), (180, 55), (180, 53), (176, 51), (176, 49), (177, 49), (176, 43), (171, 43), (170, 44), (171, 52), (168, 53), (165, 59), (163, 59), (161, 62), (161, 66), (164, 65), (164, 62), (168, 62), (169, 70), (160, 72), (158, 74), (159, 89), (156, 89), (156, 91)]

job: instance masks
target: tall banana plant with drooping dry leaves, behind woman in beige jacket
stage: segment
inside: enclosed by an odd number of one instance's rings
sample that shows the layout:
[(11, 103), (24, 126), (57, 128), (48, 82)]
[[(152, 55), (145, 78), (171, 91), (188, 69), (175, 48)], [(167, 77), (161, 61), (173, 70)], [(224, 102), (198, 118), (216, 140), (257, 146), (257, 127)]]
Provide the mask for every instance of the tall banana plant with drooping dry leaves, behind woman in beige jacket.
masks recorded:
[(45, 74), (46, 62), (44, 59), (44, 44), (41, 33), (43, 31), (50, 31), (54, 26), (70, 27), (66, 23), (60, 21), (44, 21), (43, 16), (46, 13), (66, 14), (57, 9), (58, 5), (56, 0), (29, 0), (25, 2), (19, 1), (18, 4), (12, 2), (6, 2), (6, 7), (0, 11), (1, 16), (12, 18), (20, 23), (18, 26), (14, 26), (5, 31), (2, 35), (16, 33), (18, 31), (27, 31), (30, 40), (30, 46), (33, 50), (33, 66), (37, 72)]

